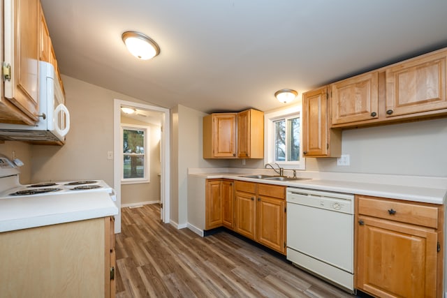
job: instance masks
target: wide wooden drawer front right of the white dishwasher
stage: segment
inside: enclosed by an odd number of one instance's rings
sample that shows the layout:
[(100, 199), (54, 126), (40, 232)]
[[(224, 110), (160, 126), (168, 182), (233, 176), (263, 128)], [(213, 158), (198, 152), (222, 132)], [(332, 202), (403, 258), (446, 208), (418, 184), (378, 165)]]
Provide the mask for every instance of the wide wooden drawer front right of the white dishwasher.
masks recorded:
[(430, 204), (358, 196), (358, 214), (438, 228), (438, 207)]

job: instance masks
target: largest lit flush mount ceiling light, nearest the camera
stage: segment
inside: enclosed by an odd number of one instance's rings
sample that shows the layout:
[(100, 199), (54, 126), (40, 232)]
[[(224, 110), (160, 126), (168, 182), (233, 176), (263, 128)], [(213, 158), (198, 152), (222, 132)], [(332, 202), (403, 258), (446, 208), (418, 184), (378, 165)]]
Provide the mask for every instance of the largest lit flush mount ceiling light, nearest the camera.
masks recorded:
[(122, 34), (122, 40), (127, 50), (138, 59), (148, 60), (160, 54), (159, 45), (143, 33), (126, 31)]

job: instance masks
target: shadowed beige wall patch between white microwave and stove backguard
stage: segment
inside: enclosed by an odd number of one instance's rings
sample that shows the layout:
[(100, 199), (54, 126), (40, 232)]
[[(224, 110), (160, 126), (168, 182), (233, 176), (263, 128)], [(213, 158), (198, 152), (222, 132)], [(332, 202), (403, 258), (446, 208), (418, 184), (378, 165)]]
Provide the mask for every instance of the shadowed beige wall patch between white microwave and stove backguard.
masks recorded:
[(20, 183), (31, 183), (31, 154), (32, 146), (24, 142), (4, 142), (0, 144), (0, 154), (3, 154), (10, 160), (13, 159), (13, 151), (15, 152), (15, 158), (19, 158), (24, 163), (20, 170)]

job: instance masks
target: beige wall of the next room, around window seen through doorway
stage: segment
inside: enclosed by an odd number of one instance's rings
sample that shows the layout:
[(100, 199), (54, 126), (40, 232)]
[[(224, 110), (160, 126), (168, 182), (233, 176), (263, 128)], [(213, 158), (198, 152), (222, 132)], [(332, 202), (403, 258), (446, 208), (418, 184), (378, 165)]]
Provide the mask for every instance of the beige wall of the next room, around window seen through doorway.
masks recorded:
[(149, 183), (121, 184), (121, 204), (138, 204), (160, 201), (160, 126), (121, 117), (122, 124), (135, 124), (149, 127)]

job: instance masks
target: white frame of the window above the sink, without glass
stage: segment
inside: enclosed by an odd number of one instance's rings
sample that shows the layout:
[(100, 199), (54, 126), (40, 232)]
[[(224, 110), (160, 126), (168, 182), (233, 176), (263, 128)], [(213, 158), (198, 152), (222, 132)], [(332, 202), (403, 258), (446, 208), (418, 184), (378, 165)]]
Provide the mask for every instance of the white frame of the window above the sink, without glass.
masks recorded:
[[(275, 161), (274, 160), (274, 137), (275, 128), (274, 121), (280, 119), (300, 118), (300, 161)], [(302, 154), (302, 108), (301, 104), (292, 105), (281, 110), (277, 110), (264, 114), (265, 127), (264, 127), (264, 156), (265, 163), (277, 163), (280, 167), (289, 170), (305, 170), (306, 159)], [(288, 134), (287, 122), (286, 122), (286, 134)], [(286, 148), (288, 150), (288, 148)]]

